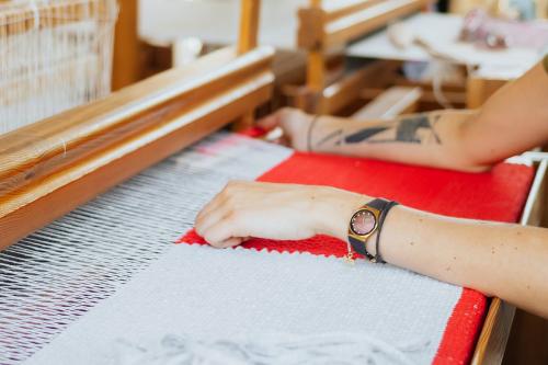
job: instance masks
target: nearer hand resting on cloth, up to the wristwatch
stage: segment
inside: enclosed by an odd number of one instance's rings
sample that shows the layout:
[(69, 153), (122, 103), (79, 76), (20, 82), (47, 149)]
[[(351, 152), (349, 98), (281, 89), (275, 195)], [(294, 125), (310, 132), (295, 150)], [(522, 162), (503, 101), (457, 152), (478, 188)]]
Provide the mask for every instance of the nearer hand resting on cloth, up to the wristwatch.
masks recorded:
[(367, 197), (327, 186), (230, 182), (196, 218), (196, 231), (217, 248), (250, 237), (346, 239), (347, 223)]

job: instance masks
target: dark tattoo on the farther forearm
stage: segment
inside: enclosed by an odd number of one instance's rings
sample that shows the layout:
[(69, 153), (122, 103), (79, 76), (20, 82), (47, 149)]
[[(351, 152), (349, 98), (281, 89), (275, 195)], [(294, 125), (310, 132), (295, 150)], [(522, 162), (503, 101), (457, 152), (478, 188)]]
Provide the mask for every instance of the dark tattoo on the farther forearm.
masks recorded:
[[(435, 130), (439, 114), (418, 114), (406, 116), (397, 121), (395, 125), (375, 126), (361, 129), (344, 137), (346, 144), (387, 144), (387, 142), (407, 142), (422, 144), (434, 139), (437, 145), (442, 144), (439, 136)], [(391, 138), (375, 138), (385, 130), (395, 130)]]

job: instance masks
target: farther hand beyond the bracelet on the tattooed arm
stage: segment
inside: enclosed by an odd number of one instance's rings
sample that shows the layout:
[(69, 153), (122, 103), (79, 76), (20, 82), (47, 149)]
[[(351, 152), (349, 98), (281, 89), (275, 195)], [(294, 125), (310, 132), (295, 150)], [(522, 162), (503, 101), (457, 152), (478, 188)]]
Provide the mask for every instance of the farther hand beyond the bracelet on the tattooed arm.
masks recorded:
[(276, 127), (284, 132), (282, 142), (296, 150), (308, 150), (308, 132), (312, 116), (298, 109), (284, 107), (258, 122), (258, 125), (272, 130)]

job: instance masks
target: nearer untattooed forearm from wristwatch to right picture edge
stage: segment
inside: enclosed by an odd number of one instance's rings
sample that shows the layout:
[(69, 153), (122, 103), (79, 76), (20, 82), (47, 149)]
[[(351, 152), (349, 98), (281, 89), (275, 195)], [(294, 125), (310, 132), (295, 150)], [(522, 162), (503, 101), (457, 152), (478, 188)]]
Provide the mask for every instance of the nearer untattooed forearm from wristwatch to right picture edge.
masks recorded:
[[(356, 197), (346, 196), (354, 202)], [(370, 197), (362, 196), (362, 204)], [(346, 240), (352, 210), (333, 236)], [(346, 226), (344, 226), (346, 223)], [(548, 318), (548, 230), (455, 219), (398, 206), (380, 237), (380, 254), (393, 265), (498, 296)], [(374, 242), (375, 237), (369, 239)], [(374, 244), (368, 250), (375, 253)]]

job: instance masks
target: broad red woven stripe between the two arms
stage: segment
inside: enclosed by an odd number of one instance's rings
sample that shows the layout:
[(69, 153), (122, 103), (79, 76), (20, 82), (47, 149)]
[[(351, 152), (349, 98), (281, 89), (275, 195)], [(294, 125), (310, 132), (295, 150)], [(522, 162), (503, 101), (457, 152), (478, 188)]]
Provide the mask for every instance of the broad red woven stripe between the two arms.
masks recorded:
[(534, 170), (501, 163), (486, 173), (463, 173), (376, 160), (295, 153), (259, 181), (331, 185), (410, 207), (455, 216), (517, 221)]

